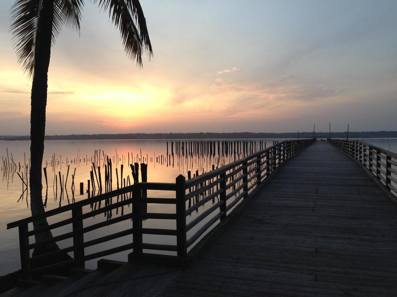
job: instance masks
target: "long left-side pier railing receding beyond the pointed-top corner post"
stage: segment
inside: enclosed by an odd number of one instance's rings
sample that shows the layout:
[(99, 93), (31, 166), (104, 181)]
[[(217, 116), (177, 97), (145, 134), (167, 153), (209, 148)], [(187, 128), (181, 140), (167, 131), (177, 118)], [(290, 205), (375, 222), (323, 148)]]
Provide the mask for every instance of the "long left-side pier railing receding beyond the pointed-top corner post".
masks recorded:
[[(187, 239), (187, 247), (191, 247), (218, 219), (225, 219), (227, 212), (236, 206), (241, 199), (247, 198), (250, 191), (258, 187), (262, 179), (272, 174), (274, 168), (283, 164), (287, 158), (297, 154), (314, 141), (316, 141), (316, 139), (281, 141), (280, 143), (276, 143), (271, 147), (260, 150), (241, 160), (237, 160), (226, 166), (186, 181), (186, 189), (208, 181), (208, 185), (198, 187), (198, 189), (188, 194), (187, 200), (199, 195), (204, 195), (204, 197), (202, 197), (200, 202), (197, 202), (194, 206), (189, 208), (186, 211), (186, 215), (190, 215), (190, 213), (196, 209), (197, 205), (201, 206), (209, 200), (214, 199), (214, 197), (220, 196), (219, 202), (213, 202), (213, 206), (201, 213), (187, 225), (186, 229), (191, 230), (195, 228), (198, 223), (202, 222), (204, 218), (208, 219), (204, 225)], [(288, 152), (286, 150), (287, 147), (289, 148)], [(262, 158), (266, 158), (266, 161), (261, 162)], [(263, 169), (262, 166), (264, 167)], [(262, 175), (261, 173), (265, 170), (266, 174)], [(229, 180), (229, 183), (227, 183), (227, 180)], [(216, 191), (213, 190), (211, 193), (211, 189), (218, 187), (218, 185), (220, 185), (220, 189)], [(229, 188), (231, 188), (230, 192), (226, 193), (226, 190)], [(210, 191), (208, 196), (206, 195), (207, 191)], [(229, 199), (232, 200), (231, 198), (233, 197), (235, 197), (233, 201), (228, 201)], [(218, 211), (216, 211), (217, 209)], [(212, 218), (210, 218), (210, 215), (212, 215)]]

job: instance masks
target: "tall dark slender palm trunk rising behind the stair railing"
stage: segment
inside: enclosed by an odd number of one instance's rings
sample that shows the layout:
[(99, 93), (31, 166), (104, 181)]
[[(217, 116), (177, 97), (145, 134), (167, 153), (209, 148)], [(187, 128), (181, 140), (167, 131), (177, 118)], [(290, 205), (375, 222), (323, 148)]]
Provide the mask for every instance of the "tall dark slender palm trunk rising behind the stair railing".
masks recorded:
[[(46, 125), (47, 80), (50, 64), (52, 21), (54, 18), (54, 0), (43, 0), (39, 17), (35, 46), (35, 71), (31, 93), (30, 128), (30, 200), (32, 215), (44, 212), (42, 202), (41, 166), (44, 152), (44, 134)], [(33, 228), (48, 226), (47, 220), (33, 222)], [(50, 231), (35, 235), (36, 242), (51, 238)], [(54, 246), (55, 247), (55, 246)], [(55, 247), (56, 248), (56, 247)], [(35, 249), (34, 254), (40, 253)]]

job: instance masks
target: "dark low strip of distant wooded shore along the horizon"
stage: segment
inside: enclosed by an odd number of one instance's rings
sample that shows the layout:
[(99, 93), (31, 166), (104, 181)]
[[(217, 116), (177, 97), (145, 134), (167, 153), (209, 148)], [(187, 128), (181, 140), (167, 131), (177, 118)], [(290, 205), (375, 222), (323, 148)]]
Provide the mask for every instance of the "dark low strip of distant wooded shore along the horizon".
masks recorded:
[[(347, 132), (331, 132), (331, 138), (346, 138)], [(313, 137), (313, 132), (299, 132), (299, 139)], [(316, 132), (317, 138), (330, 137), (329, 132)], [(395, 138), (397, 131), (369, 131), (351, 132), (349, 139), (354, 138)], [(298, 138), (297, 132), (264, 133), (264, 132), (231, 132), (231, 133), (122, 133), (122, 134), (71, 134), (71, 135), (47, 135), (45, 140), (150, 140), (150, 139), (278, 139)], [(5, 135), (0, 140), (18, 141), (30, 140), (29, 135)]]

